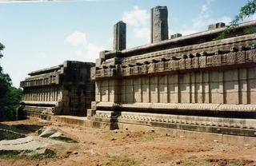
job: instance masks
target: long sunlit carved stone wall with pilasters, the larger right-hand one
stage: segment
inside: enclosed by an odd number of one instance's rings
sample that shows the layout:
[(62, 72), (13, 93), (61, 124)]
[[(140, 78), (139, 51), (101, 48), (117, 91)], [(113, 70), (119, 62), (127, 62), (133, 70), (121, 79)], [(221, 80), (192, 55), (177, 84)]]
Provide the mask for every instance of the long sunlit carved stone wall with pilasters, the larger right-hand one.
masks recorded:
[(242, 23), (221, 41), (212, 40), (220, 26), (104, 52), (91, 69), (91, 120), (254, 136), (256, 39), (241, 33), (253, 25)]

